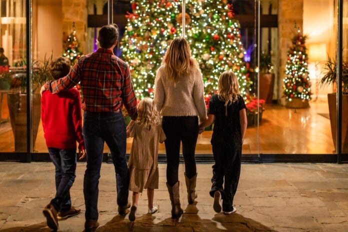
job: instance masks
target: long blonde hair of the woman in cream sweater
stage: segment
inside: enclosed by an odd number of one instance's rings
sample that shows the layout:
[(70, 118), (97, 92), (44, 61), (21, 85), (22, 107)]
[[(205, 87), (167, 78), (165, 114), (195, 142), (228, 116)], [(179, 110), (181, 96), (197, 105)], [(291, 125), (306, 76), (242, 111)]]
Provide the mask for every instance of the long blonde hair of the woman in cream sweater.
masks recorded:
[(187, 40), (183, 37), (174, 38), (164, 57), (164, 64), (167, 77), (171, 82), (177, 82), (181, 74), (189, 73), (192, 67), (198, 67), (197, 61), (191, 56), (191, 50)]

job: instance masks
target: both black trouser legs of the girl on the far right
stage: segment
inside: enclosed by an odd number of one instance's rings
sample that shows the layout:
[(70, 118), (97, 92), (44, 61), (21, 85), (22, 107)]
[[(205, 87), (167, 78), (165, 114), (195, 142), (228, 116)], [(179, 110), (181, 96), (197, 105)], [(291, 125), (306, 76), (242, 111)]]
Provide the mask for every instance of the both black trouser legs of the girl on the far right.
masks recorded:
[[(212, 178), (210, 195), (213, 196), (216, 190), (221, 192), (222, 210), (232, 211), (233, 198), (237, 191), (240, 166), (241, 166), (241, 143), (211, 142), (212, 153), (215, 164), (212, 165)], [(224, 184), (223, 184), (224, 178)], [(222, 186), (223, 184), (223, 186)]]

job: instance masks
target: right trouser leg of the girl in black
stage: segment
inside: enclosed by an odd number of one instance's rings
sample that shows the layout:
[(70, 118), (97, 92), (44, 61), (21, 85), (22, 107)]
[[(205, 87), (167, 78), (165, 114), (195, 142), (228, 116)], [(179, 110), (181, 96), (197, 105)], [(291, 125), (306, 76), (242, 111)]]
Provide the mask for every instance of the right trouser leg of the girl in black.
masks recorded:
[(229, 152), (224, 165), (224, 192), (222, 210), (230, 212), (233, 210), (233, 198), (237, 191), (241, 166), (241, 149), (236, 148)]

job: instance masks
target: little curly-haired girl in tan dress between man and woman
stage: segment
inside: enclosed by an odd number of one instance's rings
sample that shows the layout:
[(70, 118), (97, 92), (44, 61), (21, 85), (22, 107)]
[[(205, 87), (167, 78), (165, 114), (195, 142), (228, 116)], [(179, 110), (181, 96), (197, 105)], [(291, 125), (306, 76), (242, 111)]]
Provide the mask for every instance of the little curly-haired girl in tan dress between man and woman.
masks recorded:
[(147, 191), (148, 212), (157, 211), (157, 207), (153, 206), (153, 189), (158, 188), (158, 143), (165, 140), (153, 100), (149, 97), (142, 99), (137, 105), (137, 111), (137, 118), (127, 126), (127, 137), (133, 137), (128, 161), (129, 190), (133, 191), (128, 216), (130, 221), (135, 220), (139, 192), (143, 188)]

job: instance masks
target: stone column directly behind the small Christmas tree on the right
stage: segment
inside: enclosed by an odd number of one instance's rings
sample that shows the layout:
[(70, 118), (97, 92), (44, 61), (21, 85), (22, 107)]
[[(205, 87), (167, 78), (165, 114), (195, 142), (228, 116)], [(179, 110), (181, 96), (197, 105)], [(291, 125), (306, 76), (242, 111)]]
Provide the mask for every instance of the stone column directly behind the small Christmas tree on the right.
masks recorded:
[(287, 50), (291, 46), (291, 38), (295, 35), (297, 28), (302, 29), (303, 23), (303, 0), (279, 0), (278, 1), (278, 37), (279, 37), (279, 75), (278, 79), (278, 102), (285, 104), (283, 98), (283, 81)]

